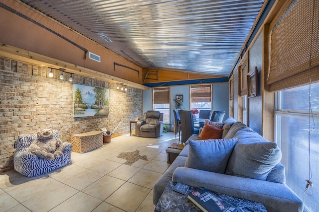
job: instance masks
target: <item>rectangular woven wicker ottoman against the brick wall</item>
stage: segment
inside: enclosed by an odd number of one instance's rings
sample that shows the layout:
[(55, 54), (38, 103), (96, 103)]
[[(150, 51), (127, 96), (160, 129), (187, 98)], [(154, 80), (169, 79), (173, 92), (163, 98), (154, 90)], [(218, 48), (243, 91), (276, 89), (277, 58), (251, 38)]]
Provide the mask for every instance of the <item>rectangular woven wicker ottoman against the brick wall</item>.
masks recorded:
[(103, 145), (102, 131), (91, 131), (87, 133), (71, 135), (72, 151), (84, 153)]

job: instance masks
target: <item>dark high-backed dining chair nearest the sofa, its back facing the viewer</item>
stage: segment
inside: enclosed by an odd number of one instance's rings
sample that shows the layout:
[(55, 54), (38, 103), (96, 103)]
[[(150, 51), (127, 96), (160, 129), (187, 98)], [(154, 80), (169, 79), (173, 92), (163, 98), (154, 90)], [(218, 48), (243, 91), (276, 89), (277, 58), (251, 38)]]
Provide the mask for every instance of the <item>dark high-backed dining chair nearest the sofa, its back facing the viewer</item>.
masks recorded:
[(191, 135), (198, 134), (198, 129), (194, 128), (193, 114), (191, 111), (180, 110), (178, 114), (180, 118), (181, 143), (184, 143)]

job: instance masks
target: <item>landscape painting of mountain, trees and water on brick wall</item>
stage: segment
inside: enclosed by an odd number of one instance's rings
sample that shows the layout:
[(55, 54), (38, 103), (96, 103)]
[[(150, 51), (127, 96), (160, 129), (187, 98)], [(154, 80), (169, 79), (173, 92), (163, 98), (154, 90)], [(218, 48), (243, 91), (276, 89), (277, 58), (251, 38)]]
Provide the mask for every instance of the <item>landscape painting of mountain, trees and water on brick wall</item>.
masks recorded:
[(74, 84), (73, 117), (106, 116), (109, 114), (109, 89)]

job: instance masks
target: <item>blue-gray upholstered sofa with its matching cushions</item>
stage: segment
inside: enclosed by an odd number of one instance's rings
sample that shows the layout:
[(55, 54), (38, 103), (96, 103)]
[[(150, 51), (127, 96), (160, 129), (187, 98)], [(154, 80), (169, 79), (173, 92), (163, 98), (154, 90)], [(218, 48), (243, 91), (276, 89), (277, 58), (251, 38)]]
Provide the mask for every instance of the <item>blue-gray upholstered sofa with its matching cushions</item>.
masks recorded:
[(303, 212), (302, 200), (285, 184), (281, 151), (233, 118), (222, 126), (222, 139), (186, 146), (154, 185), (156, 205), (169, 181), (263, 203), (268, 212)]

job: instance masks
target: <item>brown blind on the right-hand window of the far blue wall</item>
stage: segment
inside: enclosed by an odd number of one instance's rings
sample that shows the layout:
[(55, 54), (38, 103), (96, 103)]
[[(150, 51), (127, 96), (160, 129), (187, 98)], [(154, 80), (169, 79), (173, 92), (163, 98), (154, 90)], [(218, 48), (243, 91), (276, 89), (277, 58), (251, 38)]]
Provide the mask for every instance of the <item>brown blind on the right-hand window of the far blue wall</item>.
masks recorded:
[(191, 102), (211, 102), (211, 85), (191, 85), (190, 86)]

